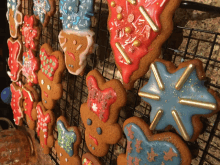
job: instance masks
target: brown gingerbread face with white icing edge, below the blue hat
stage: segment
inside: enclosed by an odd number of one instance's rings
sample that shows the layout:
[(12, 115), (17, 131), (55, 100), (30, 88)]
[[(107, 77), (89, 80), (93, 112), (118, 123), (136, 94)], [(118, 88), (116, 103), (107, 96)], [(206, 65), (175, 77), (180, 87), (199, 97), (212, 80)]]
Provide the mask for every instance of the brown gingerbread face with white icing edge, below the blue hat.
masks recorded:
[(83, 75), (86, 67), (86, 56), (91, 54), (94, 45), (94, 32), (89, 31), (61, 31), (60, 46), (65, 53), (65, 64), (73, 75)]

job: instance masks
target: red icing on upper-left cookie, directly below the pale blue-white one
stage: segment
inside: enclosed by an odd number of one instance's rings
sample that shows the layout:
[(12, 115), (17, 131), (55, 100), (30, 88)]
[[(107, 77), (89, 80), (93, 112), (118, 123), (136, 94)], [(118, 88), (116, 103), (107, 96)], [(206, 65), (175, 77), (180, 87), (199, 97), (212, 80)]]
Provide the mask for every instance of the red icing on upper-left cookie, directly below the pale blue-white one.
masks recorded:
[(22, 27), (22, 35), (25, 39), (26, 48), (35, 50), (36, 45), (34, 43), (34, 38), (38, 36), (38, 32), (34, 28), (34, 16), (24, 16), (24, 26)]

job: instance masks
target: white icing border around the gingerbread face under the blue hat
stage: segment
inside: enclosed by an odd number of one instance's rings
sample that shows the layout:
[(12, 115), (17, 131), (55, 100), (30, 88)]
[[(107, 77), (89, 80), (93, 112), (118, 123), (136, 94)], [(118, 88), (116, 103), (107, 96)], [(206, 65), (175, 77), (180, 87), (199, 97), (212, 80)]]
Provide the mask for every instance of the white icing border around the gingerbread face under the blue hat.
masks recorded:
[[(61, 41), (60, 41), (61, 38), (64, 38), (63, 36), (61, 36), (62, 32), (67, 33), (67, 34), (74, 34), (74, 35), (77, 35), (77, 36), (80, 36), (80, 37), (86, 36), (86, 38), (87, 38), (87, 42), (88, 42), (87, 47), (86, 47), (85, 51), (83, 51), (79, 55), (79, 65), (81, 65), (81, 67), (79, 69), (77, 69), (75, 72), (72, 72), (72, 71), (69, 70), (68, 66), (66, 66), (69, 73), (71, 73), (73, 75), (79, 75), (83, 71), (83, 69), (86, 67), (86, 55), (88, 54), (90, 47), (94, 43), (93, 42), (93, 36), (95, 35), (95, 33), (91, 30), (85, 30), (85, 31), (62, 30), (59, 33), (58, 39), (59, 39), (60, 46), (63, 49), (64, 53), (66, 52), (66, 47), (64, 47), (64, 45), (66, 43), (65, 42), (61, 43)], [(65, 64), (66, 64), (66, 55), (65, 55)]]

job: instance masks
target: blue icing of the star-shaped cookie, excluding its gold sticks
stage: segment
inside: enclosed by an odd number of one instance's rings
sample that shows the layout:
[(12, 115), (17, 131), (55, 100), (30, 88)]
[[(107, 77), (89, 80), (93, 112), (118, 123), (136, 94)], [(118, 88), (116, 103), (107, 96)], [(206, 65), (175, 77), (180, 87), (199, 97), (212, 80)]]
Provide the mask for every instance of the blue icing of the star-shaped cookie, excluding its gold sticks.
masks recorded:
[(186, 98), (210, 103), (216, 103), (216, 100), (207, 91), (207, 88), (204, 86), (204, 81), (198, 79), (195, 69), (185, 82), (184, 86), (178, 91), (175, 89), (175, 84), (177, 83), (186, 68), (182, 68), (177, 72), (170, 74), (164, 64), (156, 62), (156, 65), (158, 72), (160, 73), (161, 79), (164, 83), (165, 90), (162, 91), (159, 89), (152, 71), (148, 83), (144, 85), (140, 90), (142, 92), (148, 92), (160, 96), (159, 101), (142, 97), (142, 99), (148, 102), (152, 107), (150, 120), (152, 122), (157, 111), (162, 109), (164, 111), (163, 116), (157, 124), (156, 129), (162, 130), (165, 129), (168, 125), (172, 125), (179, 132), (179, 134), (181, 134), (171, 114), (172, 110), (176, 110), (183, 122), (183, 125), (188, 135), (191, 138), (193, 135), (193, 126), (191, 122), (192, 116), (196, 114), (209, 114), (212, 111), (203, 108), (181, 105), (178, 103), (178, 98)]

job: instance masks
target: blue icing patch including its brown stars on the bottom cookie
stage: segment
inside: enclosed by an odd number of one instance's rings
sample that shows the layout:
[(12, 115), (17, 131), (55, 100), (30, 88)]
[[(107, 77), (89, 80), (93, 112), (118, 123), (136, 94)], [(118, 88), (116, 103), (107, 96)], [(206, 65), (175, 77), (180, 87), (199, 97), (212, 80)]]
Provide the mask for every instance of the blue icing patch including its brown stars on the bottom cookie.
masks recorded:
[[(133, 133), (133, 136), (130, 136), (128, 130)], [(139, 165), (161, 165), (162, 163), (164, 165), (179, 165), (181, 163), (180, 153), (172, 143), (148, 141), (140, 127), (134, 123), (127, 124), (124, 127), (124, 132), (127, 137), (127, 145), (129, 145), (126, 151), (127, 164), (139, 162)], [(167, 157), (167, 153), (170, 152), (172, 154)]]

